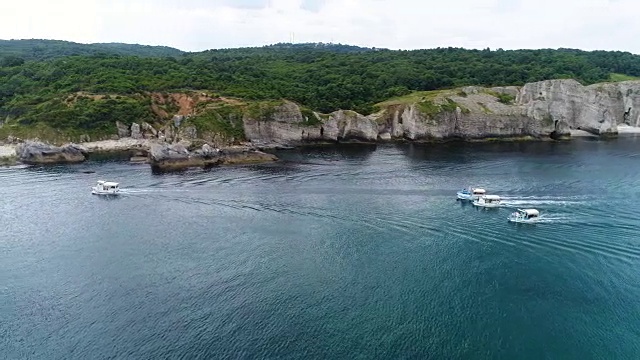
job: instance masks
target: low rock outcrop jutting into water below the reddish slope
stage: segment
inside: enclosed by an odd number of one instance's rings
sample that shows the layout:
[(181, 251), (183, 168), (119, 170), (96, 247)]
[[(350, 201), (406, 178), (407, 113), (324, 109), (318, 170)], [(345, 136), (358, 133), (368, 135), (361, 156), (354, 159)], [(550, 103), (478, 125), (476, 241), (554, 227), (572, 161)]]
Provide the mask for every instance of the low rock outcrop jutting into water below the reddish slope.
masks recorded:
[(176, 171), (194, 167), (210, 167), (225, 164), (248, 164), (276, 161), (273, 154), (254, 149), (213, 149), (204, 144), (201, 149), (189, 152), (185, 144), (154, 144), (149, 151), (151, 168), (157, 171)]

